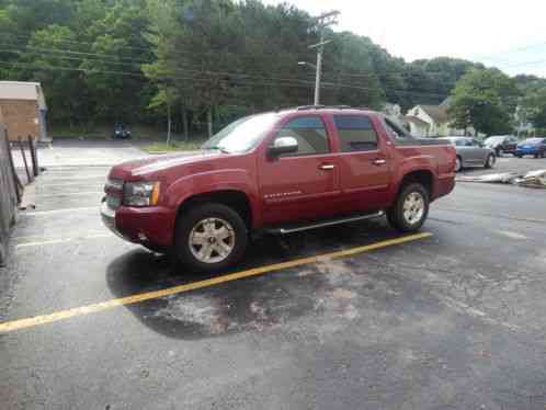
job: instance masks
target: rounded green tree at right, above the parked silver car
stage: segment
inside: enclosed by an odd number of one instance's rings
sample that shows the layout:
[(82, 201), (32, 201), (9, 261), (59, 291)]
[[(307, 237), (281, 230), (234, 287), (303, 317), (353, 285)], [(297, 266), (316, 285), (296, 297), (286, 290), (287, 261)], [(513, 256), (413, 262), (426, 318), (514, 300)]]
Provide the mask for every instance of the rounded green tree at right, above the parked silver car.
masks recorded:
[(486, 135), (512, 129), (519, 90), (513, 79), (498, 69), (474, 69), (452, 92), (448, 115), (456, 127)]

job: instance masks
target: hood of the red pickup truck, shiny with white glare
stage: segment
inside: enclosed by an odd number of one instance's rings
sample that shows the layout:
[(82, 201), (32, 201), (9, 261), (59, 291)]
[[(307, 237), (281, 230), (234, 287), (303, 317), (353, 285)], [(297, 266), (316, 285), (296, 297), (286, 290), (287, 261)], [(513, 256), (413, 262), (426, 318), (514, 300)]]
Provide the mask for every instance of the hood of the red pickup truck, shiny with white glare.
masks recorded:
[(208, 161), (221, 157), (215, 150), (195, 151), (191, 153), (175, 153), (157, 157), (140, 158), (115, 166), (110, 171), (110, 178), (132, 180), (149, 174), (157, 174), (174, 167)]

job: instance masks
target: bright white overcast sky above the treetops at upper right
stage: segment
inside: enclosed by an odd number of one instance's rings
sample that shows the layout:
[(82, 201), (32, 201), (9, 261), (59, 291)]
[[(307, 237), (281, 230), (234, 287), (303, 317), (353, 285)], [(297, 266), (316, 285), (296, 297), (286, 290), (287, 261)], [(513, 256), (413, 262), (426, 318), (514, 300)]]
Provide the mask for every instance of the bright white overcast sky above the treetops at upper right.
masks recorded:
[(340, 24), (411, 61), (459, 57), (510, 75), (546, 77), (544, 0), (263, 0), (287, 2), (318, 15), (339, 10)]

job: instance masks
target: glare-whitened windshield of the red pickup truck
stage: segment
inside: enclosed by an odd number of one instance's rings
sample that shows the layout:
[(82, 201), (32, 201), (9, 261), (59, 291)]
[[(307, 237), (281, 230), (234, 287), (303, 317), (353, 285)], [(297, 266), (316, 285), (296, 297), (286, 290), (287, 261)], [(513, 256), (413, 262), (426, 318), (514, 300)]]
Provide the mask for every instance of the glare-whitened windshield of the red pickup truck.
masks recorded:
[(260, 114), (229, 124), (203, 145), (228, 153), (247, 152), (254, 148), (278, 119), (276, 114)]

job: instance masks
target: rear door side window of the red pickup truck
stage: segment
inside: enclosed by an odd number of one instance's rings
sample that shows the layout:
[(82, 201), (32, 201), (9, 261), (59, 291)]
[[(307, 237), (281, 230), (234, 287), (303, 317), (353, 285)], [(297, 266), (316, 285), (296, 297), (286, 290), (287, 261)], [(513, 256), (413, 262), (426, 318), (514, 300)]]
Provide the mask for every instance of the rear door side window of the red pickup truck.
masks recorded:
[(377, 134), (369, 118), (356, 115), (334, 115), (342, 152), (377, 149)]

